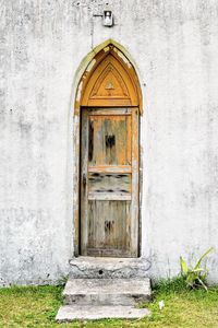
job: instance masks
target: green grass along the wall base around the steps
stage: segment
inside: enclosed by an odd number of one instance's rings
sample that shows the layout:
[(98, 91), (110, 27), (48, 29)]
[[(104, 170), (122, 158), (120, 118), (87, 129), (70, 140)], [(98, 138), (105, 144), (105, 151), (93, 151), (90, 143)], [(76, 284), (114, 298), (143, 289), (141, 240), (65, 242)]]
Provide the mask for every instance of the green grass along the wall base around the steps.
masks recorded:
[[(152, 315), (142, 320), (98, 320), (57, 324), (55, 317), (62, 303), (61, 286), (0, 289), (0, 327), (195, 327), (218, 328), (218, 286), (187, 291), (183, 281), (161, 281), (154, 286)], [(158, 302), (165, 307), (159, 311)]]

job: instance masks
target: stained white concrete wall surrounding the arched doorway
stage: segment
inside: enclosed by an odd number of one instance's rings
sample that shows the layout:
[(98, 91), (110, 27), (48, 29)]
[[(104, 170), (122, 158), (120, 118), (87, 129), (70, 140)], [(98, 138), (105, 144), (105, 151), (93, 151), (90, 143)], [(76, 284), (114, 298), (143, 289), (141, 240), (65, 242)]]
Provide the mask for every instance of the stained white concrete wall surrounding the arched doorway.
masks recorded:
[[(109, 3), (114, 26), (101, 25)], [(209, 246), (218, 282), (218, 2), (3, 0), (0, 8), (0, 282), (57, 282), (73, 255), (74, 79), (112, 38), (144, 95), (142, 255), (179, 272)]]

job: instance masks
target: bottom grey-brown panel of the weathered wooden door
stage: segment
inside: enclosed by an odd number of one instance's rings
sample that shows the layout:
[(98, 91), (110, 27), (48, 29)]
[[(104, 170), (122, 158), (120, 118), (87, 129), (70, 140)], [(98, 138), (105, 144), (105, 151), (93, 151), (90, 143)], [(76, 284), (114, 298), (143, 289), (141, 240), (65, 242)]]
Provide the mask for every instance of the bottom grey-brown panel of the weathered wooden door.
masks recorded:
[[(87, 253), (90, 256), (128, 256), (130, 201), (88, 201)], [(123, 220), (125, 218), (125, 220)]]

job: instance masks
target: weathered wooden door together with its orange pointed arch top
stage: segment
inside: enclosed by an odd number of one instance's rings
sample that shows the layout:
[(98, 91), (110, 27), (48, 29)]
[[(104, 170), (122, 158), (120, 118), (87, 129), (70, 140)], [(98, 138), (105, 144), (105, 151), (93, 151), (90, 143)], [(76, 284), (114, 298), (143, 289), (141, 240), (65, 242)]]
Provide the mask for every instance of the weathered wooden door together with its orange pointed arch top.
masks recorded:
[(81, 97), (81, 255), (137, 257), (137, 80), (113, 46), (95, 60)]

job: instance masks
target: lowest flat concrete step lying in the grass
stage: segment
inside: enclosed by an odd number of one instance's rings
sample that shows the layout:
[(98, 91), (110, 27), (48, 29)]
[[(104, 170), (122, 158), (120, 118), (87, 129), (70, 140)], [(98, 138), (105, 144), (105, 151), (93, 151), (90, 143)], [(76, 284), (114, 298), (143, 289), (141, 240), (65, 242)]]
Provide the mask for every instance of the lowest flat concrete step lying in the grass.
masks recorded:
[(56, 320), (59, 323), (72, 320), (96, 320), (96, 319), (137, 319), (149, 315), (147, 308), (135, 308), (132, 306), (94, 306), (94, 305), (64, 305), (61, 306)]

